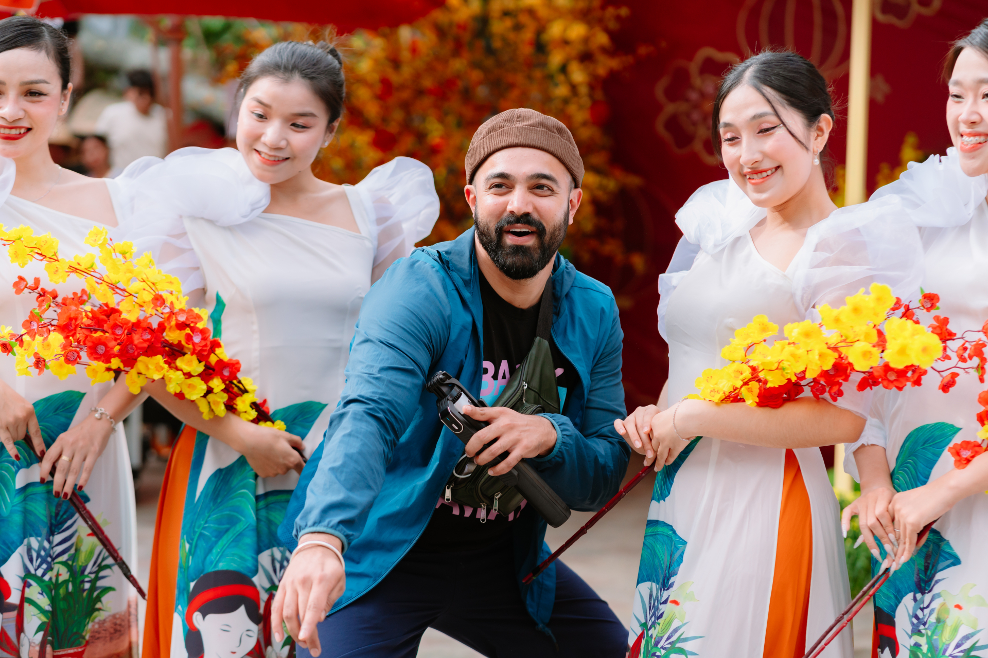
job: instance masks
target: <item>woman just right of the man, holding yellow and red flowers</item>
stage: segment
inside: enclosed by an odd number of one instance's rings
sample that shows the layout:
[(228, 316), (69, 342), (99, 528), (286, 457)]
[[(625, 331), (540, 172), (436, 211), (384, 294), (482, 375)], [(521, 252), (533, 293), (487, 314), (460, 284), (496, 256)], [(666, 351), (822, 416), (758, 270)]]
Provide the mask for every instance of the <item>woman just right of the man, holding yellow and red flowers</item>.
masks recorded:
[[(882, 340), (903, 331), (931, 362), (941, 343), (886, 321), (918, 288), (919, 240), (893, 230), (888, 204), (831, 202), (833, 125), (826, 82), (791, 52), (749, 58), (718, 91), (711, 131), (730, 176), (677, 214), (684, 238), (659, 279), (669, 380), (657, 405), (616, 421), (659, 471), (632, 656), (799, 657), (850, 601), (817, 446), (862, 433), (870, 380), (854, 371), (878, 364)], [(850, 658), (850, 633), (824, 655)]]

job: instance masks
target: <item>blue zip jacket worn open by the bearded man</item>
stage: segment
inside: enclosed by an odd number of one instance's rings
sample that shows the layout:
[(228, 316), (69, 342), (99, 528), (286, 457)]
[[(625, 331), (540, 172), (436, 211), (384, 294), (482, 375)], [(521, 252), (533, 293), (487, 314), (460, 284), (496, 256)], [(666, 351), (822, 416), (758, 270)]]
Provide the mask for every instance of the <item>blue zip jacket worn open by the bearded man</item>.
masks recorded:
[[(483, 308), (473, 230), (397, 260), (364, 300), (347, 364), (347, 384), (326, 436), (288, 503), (279, 535), (288, 548), (305, 533), (343, 541), (347, 589), (337, 611), (371, 590), (425, 530), (463, 444), (439, 420), (427, 380), (446, 370), (478, 396), (483, 375)], [(556, 256), (552, 338), (579, 384), (565, 413), (544, 413), (556, 444), (530, 460), (576, 510), (597, 510), (617, 493), (630, 450), (614, 428), (624, 417), (621, 338), (611, 290)], [(512, 523), (519, 586), (546, 630), (555, 569), (521, 579), (549, 554), (534, 511)], [(478, 565), (479, 566), (479, 565)]]

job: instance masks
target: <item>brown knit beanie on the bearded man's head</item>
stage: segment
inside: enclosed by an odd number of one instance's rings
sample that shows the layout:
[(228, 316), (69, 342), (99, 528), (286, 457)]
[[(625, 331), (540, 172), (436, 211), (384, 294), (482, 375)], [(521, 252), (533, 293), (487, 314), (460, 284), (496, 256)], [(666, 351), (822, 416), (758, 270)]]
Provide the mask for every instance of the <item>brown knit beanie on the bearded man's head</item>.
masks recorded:
[(583, 159), (569, 128), (557, 118), (527, 108), (505, 110), (480, 124), (466, 150), (466, 183), (473, 183), (473, 175), (487, 158), (515, 146), (555, 156), (569, 170), (577, 187), (583, 183)]

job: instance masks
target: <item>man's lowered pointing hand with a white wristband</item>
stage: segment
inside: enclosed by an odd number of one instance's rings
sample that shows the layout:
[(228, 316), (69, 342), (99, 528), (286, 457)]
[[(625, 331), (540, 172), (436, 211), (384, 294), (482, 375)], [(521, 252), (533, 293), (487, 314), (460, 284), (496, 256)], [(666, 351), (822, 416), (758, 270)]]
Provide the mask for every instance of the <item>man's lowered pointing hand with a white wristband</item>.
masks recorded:
[[(305, 542), (325, 542), (342, 550), (343, 542), (334, 535), (309, 533), (298, 539), (301, 546)], [(271, 607), (271, 628), (275, 639), (284, 639), (282, 622), (295, 642), (313, 656), (322, 653), (319, 645), (319, 630), (316, 624), (326, 619), (347, 587), (347, 576), (343, 564), (329, 548), (320, 546), (299, 550), (288, 562), (288, 569), (278, 585), (278, 594)]]

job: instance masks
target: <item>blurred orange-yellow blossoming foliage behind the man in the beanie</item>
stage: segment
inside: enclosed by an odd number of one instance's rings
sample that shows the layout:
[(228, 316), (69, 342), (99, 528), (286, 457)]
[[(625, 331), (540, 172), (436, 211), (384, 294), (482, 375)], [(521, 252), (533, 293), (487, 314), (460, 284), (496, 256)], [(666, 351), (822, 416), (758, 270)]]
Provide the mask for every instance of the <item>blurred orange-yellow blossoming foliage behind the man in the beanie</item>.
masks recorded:
[[(425, 243), (451, 240), (472, 224), (463, 158), (474, 131), (499, 111), (532, 108), (569, 127), (586, 167), (583, 203), (563, 252), (577, 262), (605, 257), (643, 271), (644, 255), (627, 250), (621, 227), (604, 216), (622, 188), (640, 183), (612, 163), (604, 128), (604, 81), (633, 60), (611, 39), (627, 13), (605, 0), (448, 0), (412, 25), (340, 39), (347, 110), (316, 175), (357, 183), (397, 156), (421, 160), (442, 202)], [(239, 75), (277, 40), (332, 36), (321, 27), (218, 20), (202, 22), (202, 30), (219, 81)]]

